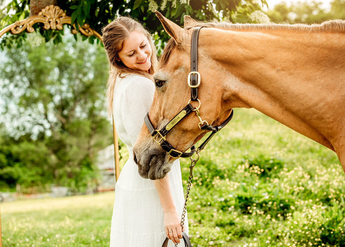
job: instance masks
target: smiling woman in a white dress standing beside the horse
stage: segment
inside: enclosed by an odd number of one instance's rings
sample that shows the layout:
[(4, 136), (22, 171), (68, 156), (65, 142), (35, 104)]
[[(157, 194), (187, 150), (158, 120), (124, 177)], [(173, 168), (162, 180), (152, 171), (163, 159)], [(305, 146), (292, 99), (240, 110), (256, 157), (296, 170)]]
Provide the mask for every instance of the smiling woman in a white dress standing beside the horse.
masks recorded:
[(109, 113), (129, 151), (115, 188), (110, 247), (160, 247), (165, 237), (180, 243), (182, 230), (188, 234), (188, 219), (181, 229), (184, 194), (179, 160), (165, 179), (152, 181), (140, 177), (132, 156), (154, 96), (156, 48), (148, 31), (128, 17), (115, 19), (102, 33), (110, 66)]

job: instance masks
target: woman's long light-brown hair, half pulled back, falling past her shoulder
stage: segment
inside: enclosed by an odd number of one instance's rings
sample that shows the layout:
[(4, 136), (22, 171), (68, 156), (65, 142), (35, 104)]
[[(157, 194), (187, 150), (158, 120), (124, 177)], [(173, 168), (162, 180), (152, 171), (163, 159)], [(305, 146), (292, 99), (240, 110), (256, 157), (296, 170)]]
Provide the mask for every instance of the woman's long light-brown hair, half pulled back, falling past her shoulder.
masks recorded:
[[(124, 46), (125, 40), (133, 31), (139, 31), (145, 35), (152, 49), (151, 67), (146, 71), (133, 70), (126, 67), (119, 58), (119, 52)], [(108, 112), (112, 115), (112, 101), (114, 86), (117, 76), (122, 73), (138, 74), (152, 80), (152, 75), (157, 68), (156, 46), (153, 44), (150, 33), (138, 22), (129, 17), (119, 17), (102, 28), (102, 43), (107, 53), (109, 62), (109, 79), (107, 83)]]

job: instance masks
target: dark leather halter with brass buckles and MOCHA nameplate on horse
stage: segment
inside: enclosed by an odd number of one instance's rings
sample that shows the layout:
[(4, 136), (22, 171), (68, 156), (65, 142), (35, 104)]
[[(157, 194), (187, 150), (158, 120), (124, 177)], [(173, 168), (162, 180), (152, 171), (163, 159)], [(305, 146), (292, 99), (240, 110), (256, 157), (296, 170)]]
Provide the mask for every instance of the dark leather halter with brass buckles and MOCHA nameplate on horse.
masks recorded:
[[(191, 72), (188, 74), (188, 86), (191, 88), (191, 95), (190, 100), (185, 108), (183, 108), (166, 126), (164, 126), (162, 129), (155, 129), (155, 127), (152, 125), (149, 113), (145, 116), (145, 124), (147, 129), (149, 130), (152, 138), (154, 139), (155, 143), (159, 144), (166, 152), (168, 152), (168, 155), (173, 158), (188, 158), (191, 157), (195, 152), (199, 153), (201, 150), (204, 149), (208, 141), (218, 132), (221, 128), (223, 128), (233, 117), (234, 110), (231, 110), (230, 116), (223, 122), (223, 124), (218, 126), (212, 126), (209, 125), (207, 121), (202, 120), (199, 113), (199, 108), (201, 105), (200, 100), (198, 99), (198, 86), (200, 85), (200, 79), (201, 76), (198, 72), (198, 37), (199, 37), (199, 31), (201, 27), (195, 27), (193, 34), (192, 34), (192, 41), (191, 41), (191, 58), (190, 58), (190, 70)], [(190, 104), (190, 101), (198, 101), (199, 106), (196, 108), (193, 108), (193, 106)], [(186, 117), (190, 112), (195, 111), (196, 116), (199, 118), (199, 128), (203, 130), (210, 130), (212, 131), (211, 135), (207, 137), (207, 139), (201, 144), (198, 149), (195, 149), (195, 146), (191, 147), (191, 152), (180, 152), (176, 148), (172, 147), (168, 141), (165, 139), (168, 132), (176, 126), (176, 124), (181, 121), (184, 117)]]

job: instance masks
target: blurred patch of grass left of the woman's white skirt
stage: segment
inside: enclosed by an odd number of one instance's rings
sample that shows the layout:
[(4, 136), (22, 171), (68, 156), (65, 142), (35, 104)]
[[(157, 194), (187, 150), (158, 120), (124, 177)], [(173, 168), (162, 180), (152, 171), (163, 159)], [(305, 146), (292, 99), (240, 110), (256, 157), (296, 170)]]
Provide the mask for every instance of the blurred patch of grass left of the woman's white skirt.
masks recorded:
[(109, 246), (114, 192), (1, 204), (3, 246)]

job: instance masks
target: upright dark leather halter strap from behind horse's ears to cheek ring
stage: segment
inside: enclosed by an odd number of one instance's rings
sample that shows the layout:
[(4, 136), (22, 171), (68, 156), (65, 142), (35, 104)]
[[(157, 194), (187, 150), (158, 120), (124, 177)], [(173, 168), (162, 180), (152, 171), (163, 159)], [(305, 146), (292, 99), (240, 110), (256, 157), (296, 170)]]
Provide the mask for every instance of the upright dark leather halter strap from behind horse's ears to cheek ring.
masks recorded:
[[(202, 27), (195, 27), (192, 34), (190, 46), (190, 72), (198, 71), (198, 37)], [(196, 86), (198, 83), (198, 74), (191, 74), (190, 85)], [(198, 99), (198, 88), (191, 88), (190, 99), (196, 101)]]

